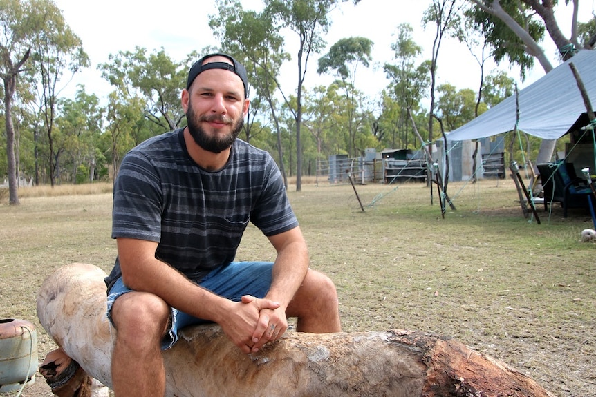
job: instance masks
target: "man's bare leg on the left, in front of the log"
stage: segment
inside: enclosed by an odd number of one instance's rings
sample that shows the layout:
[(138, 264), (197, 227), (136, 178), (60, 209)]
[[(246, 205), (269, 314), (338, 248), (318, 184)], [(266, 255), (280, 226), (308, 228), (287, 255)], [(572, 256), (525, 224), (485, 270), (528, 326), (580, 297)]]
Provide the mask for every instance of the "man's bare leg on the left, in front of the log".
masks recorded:
[(160, 342), (169, 314), (167, 304), (150, 293), (129, 292), (115, 300), (111, 312), (118, 331), (112, 354), (115, 396), (164, 395)]

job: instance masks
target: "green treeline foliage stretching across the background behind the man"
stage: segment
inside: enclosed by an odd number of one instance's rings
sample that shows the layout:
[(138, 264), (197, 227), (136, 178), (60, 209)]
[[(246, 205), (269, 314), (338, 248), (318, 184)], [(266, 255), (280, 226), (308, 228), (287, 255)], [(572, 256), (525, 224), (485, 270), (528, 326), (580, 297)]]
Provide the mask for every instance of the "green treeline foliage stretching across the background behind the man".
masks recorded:
[[(60, 73), (76, 72), (86, 64), (80, 41), (47, 0), (0, 1), (6, 6), (1, 9), (3, 28), (15, 37), (28, 40), (23, 39), (20, 46), (13, 47), (20, 51), (14, 52), (13, 64), (24, 59), (26, 50), (32, 48), (35, 54), (28, 62), (35, 60), (39, 65), (39, 68), (22, 69), (27, 73), (23, 75), (26, 78), (19, 79), (11, 109), (17, 175), (33, 177), (36, 184), (52, 182), (52, 178), (56, 178), (57, 184), (82, 182), (83, 171), (89, 182), (109, 180), (130, 148), (151, 136), (185, 125), (180, 90), (185, 86), (188, 67), (198, 57), (196, 52), (189, 53), (182, 61), (169, 57), (163, 48), (135, 48), (115, 53), (100, 65), (102, 76), (113, 87), (107, 98), (85, 93), (84, 86), (77, 90), (75, 98), (61, 98), (59, 87), (55, 86), (57, 77)], [(430, 71), (434, 66), (433, 59), (421, 59), (421, 44), (429, 43), (417, 43), (411, 26), (398, 26), (391, 44), (394, 60), (383, 65), (389, 84), (373, 99), (366, 97), (359, 90), (360, 84), (366, 81), (359, 84), (357, 77), (363, 68), (374, 66), (374, 43), (366, 37), (344, 37), (328, 47), (325, 42), (326, 32), (333, 23), (329, 12), (340, 3), (339, 0), (270, 0), (263, 2), (259, 10), (245, 10), (240, 1), (218, 0), (218, 12), (209, 17), (209, 25), (221, 40), (221, 46), (208, 50), (229, 52), (245, 64), (250, 75), (251, 106), (241, 138), (272, 153), (286, 177), (286, 184), (288, 175), (296, 175), (299, 181), (301, 175), (313, 173), (317, 159), (326, 159), (329, 155), (355, 157), (366, 148), (420, 148), (421, 142), (413, 134), (409, 109), (422, 136), (428, 137), (429, 130), (437, 126), (435, 122), (429, 125), (429, 110), (425, 109), (431, 86)], [(443, 5), (447, 3), (443, 1)], [(469, 0), (467, 3), (472, 6), (477, 2)], [(501, 0), (500, 3), (510, 10), (513, 1)], [(425, 23), (439, 16), (440, 4), (433, 1), (434, 8), (425, 13)], [(535, 37), (543, 37), (543, 21), (538, 14), (530, 17), (527, 1), (521, 4), (521, 8), (510, 11), (519, 13), (516, 17), (519, 23), (528, 21)], [(6, 13), (9, 6), (22, 8), (21, 14), (15, 14), (19, 18), (10, 23)], [(44, 7), (48, 6), (48, 12), (34, 12), (28, 19), (24, 10), (32, 6), (37, 6), (37, 10), (46, 10)], [(476, 25), (462, 23), (461, 26), (470, 30), (478, 44), (486, 33), (492, 40), (485, 41), (488, 53), (495, 43), (503, 54), (507, 50), (505, 45), (523, 45), (511, 39), (510, 33), (500, 31), (505, 29), (502, 21), (481, 11), (479, 6), (470, 7), (465, 14), (466, 23), (472, 21)], [(55, 21), (39, 27), (40, 21), (49, 17)], [(579, 35), (584, 41), (593, 31), (590, 26), (594, 19), (590, 23), (579, 25)], [(41, 31), (41, 28), (61, 32), (59, 35), (49, 32), (32, 35), (35, 29)], [(24, 35), (27, 32), (30, 36)], [(453, 32), (454, 35), (462, 33)], [(44, 47), (48, 43), (54, 43), (55, 48)], [(290, 54), (287, 48), (295, 52)], [(310, 87), (304, 79), (310, 66), (308, 60), (324, 48), (328, 48), (328, 52), (319, 58), (317, 71), (337, 79), (328, 86)], [(516, 54), (513, 52), (511, 59), (519, 55)], [(294, 86), (282, 87), (280, 72), (290, 62), (298, 66), (298, 79)], [(44, 72), (41, 74), (39, 70)], [(474, 101), (477, 101), (478, 113), (482, 113), (512, 95), (513, 81), (505, 72), (488, 75), (483, 77), (476, 95), (470, 90), (457, 90), (448, 83), (443, 84), (438, 87), (435, 113), (443, 120), (446, 130), (457, 128), (474, 117)], [(44, 90), (37, 90), (42, 87)], [(2, 133), (6, 139), (1, 139), (0, 147), (6, 153), (9, 131)], [(513, 142), (512, 155), (522, 157), (523, 148), (528, 151), (525, 155), (532, 158), (539, 141), (534, 137), (521, 140), (523, 145)], [(0, 158), (0, 175), (8, 175), (9, 168), (8, 157)]]

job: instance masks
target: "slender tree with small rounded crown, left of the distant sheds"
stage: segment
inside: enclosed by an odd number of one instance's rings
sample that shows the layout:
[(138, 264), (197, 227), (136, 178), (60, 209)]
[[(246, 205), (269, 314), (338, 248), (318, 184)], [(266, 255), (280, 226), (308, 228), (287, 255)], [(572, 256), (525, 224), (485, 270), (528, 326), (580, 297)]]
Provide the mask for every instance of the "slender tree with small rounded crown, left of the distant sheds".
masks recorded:
[(361, 64), (366, 68), (369, 67), (372, 48), (373, 41), (366, 37), (348, 37), (339, 39), (331, 46), (328, 53), (319, 58), (317, 73), (320, 75), (333, 72), (341, 80), (340, 86), (344, 88), (344, 95), (348, 103), (346, 113), (348, 117), (347, 130), (350, 137), (348, 146), (350, 157), (353, 157), (356, 151), (356, 124), (358, 122), (356, 115), (360, 107), (360, 102), (356, 101), (356, 72)]

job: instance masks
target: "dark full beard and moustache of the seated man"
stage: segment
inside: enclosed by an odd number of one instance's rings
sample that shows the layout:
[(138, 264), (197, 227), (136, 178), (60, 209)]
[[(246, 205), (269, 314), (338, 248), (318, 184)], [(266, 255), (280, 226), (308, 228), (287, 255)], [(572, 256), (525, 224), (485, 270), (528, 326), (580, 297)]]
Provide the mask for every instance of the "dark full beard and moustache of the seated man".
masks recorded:
[[(222, 115), (197, 116), (190, 101), (186, 112), (186, 119), (188, 132), (192, 136), (192, 139), (194, 139), (194, 142), (205, 149), (205, 151), (212, 153), (221, 153), (227, 148), (230, 148), (244, 126), (243, 117), (234, 121), (232, 117)], [(220, 136), (219, 134), (209, 135), (205, 131), (205, 128), (201, 127), (201, 122), (224, 122), (232, 126), (232, 130), (224, 136)]]

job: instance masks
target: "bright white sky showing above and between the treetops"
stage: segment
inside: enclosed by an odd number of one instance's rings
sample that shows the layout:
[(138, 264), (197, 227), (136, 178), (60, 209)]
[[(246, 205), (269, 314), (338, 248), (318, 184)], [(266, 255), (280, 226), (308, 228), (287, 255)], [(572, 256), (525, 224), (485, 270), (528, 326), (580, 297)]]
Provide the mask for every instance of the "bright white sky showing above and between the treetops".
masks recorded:
[[(147, 48), (148, 52), (163, 48), (174, 61), (182, 61), (193, 50), (201, 51), (205, 46), (218, 46), (218, 41), (209, 29), (209, 15), (216, 13), (214, 0), (188, 1), (146, 0), (139, 6), (133, 0), (55, 0), (66, 19), (66, 23), (82, 39), (83, 48), (91, 59), (91, 67), (68, 81), (62, 93), (73, 97), (77, 84), (84, 84), (86, 93), (94, 93), (103, 101), (112, 88), (101, 77), (97, 65), (109, 61), (109, 55), (120, 51), (133, 51), (136, 46)], [(241, 0), (245, 10), (261, 8), (260, 0)], [(564, 4), (564, 1), (559, 1)], [(579, 0), (579, 21), (588, 21), (595, 12), (596, 0)], [(351, 1), (342, 3), (331, 15), (331, 26), (326, 36), (328, 48), (344, 37), (366, 37), (373, 41), (373, 64), (368, 69), (357, 71), (355, 85), (366, 95), (375, 96), (387, 86), (382, 65), (393, 62), (391, 43), (400, 23), (407, 22), (413, 29), (413, 39), (424, 50), (420, 61), (430, 59), (434, 40), (433, 27), (424, 30), (421, 26), (422, 13), (429, 1), (410, 0), (361, 0), (356, 6)], [(555, 17), (564, 35), (570, 35), (572, 7), (559, 6)], [(281, 84), (284, 92), (294, 93), (297, 86), (297, 66), (292, 43), (297, 40), (290, 32), (286, 49), (292, 61), (281, 70)], [(543, 48), (553, 67), (559, 64), (555, 45), (547, 37)], [(317, 59), (310, 59), (305, 85), (312, 88), (319, 84), (330, 84), (333, 78), (317, 75)], [(485, 75), (496, 68), (505, 70), (523, 88), (544, 75), (536, 62), (525, 81), (519, 80), (519, 70), (494, 64), (485, 69)], [(465, 45), (454, 39), (444, 39), (438, 57), (438, 84), (449, 83), (458, 89), (477, 90), (480, 68)]]

